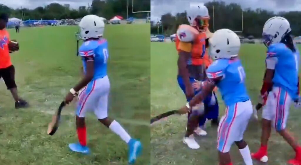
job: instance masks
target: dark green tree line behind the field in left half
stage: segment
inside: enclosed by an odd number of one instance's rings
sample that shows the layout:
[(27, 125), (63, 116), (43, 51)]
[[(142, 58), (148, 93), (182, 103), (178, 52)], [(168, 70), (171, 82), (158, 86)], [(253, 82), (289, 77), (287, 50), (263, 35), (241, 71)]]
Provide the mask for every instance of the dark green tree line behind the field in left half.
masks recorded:
[[(91, 5), (91, 6), (90, 6)], [(12, 9), (0, 4), (0, 13), (8, 13), (10, 17), (16, 17), (23, 20), (28, 19), (77, 19), (88, 14), (94, 14), (106, 19), (119, 15), (126, 19), (127, 6), (129, 17), (146, 18), (147, 13), (132, 13), (132, 0), (93, 0), (92, 4), (80, 6), (78, 9), (71, 9), (58, 3), (51, 3), (45, 7), (36, 7), (35, 9), (17, 8)], [(151, 2), (149, 0), (135, 0), (134, 11), (149, 11)]]

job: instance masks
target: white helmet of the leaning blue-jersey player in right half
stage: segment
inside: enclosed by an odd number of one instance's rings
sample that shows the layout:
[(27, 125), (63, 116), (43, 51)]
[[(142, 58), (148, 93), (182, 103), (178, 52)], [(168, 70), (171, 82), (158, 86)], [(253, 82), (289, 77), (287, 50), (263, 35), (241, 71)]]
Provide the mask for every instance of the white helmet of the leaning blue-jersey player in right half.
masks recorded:
[(217, 30), (209, 38), (209, 55), (213, 59), (236, 57), (239, 49), (240, 39), (232, 30)]

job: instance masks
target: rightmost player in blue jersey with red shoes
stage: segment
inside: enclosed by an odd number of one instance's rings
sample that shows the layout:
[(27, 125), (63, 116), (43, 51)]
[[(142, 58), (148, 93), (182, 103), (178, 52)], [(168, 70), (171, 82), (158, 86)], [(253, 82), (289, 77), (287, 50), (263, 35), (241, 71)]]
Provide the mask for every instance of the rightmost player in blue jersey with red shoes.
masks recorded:
[(283, 17), (272, 17), (263, 26), (262, 37), (268, 51), (260, 94), (262, 98), (267, 96), (267, 101), (262, 110), (261, 146), (252, 157), (263, 162), (268, 161), (268, 139), (273, 127), (296, 152), (296, 157), (288, 163), (299, 165), (301, 147), (285, 129), (290, 104), (293, 101), (299, 103), (299, 52), (290, 33), (290, 23)]

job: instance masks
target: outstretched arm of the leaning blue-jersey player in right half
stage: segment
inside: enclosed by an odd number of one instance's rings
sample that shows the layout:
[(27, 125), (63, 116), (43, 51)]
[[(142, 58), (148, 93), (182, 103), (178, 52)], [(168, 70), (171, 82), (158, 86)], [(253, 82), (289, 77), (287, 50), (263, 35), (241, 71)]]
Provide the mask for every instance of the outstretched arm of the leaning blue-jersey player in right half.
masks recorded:
[(222, 76), (216, 78), (209, 78), (202, 83), (202, 91), (195, 95), (191, 101), (189, 101), (189, 106), (194, 107), (200, 104), (216, 87), (216, 84), (222, 79)]

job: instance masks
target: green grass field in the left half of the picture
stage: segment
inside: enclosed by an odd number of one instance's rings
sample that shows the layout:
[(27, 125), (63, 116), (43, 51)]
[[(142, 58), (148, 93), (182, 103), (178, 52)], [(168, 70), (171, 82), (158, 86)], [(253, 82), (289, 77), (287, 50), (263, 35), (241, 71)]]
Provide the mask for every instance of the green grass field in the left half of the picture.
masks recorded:
[[(144, 152), (137, 164), (150, 160), (150, 26), (107, 26), (108, 75), (111, 82), (109, 116), (141, 139)], [(54, 136), (46, 134), (51, 115), (71, 87), (79, 81), (81, 60), (76, 57), (77, 26), (21, 28), (11, 39), (20, 51), (11, 54), (19, 94), (31, 105), (15, 110), (11, 94), (0, 82), (0, 162), (6, 165), (127, 164), (127, 145), (101, 125), (94, 114), (87, 116), (90, 155), (69, 151), (77, 141), (75, 101), (62, 114)], [(138, 93), (138, 94), (137, 94)]]

